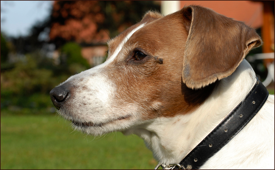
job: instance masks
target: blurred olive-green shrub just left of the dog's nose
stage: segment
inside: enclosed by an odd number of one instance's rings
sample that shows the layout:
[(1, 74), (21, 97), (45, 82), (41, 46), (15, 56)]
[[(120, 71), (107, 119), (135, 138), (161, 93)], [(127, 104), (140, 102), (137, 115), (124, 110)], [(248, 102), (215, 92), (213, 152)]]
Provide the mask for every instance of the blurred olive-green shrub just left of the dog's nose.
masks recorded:
[(28, 54), (12, 69), (1, 72), (1, 110), (52, 106), (49, 92), (60, 80), (52, 70), (38, 67), (35, 57)]

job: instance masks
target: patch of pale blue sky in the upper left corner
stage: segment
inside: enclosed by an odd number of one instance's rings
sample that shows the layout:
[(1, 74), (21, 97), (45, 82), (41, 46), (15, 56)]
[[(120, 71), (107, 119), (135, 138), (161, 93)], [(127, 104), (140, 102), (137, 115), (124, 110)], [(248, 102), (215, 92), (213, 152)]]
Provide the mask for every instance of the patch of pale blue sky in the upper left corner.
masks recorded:
[(50, 15), (53, 1), (1, 1), (1, 32), (28, 35), (30, 28)]

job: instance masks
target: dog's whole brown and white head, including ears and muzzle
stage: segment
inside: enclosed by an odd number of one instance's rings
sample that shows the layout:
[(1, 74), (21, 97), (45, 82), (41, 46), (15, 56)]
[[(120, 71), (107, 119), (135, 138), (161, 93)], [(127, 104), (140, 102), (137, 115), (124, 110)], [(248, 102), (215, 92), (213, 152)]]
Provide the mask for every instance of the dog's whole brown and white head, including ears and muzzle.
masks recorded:
[(51, 99), (83, 132), (125, 131), (191, 113), (260, 44), (253, 29), (211, 9), (148, 12), (108, 42), (103, 64), (61, 83)]

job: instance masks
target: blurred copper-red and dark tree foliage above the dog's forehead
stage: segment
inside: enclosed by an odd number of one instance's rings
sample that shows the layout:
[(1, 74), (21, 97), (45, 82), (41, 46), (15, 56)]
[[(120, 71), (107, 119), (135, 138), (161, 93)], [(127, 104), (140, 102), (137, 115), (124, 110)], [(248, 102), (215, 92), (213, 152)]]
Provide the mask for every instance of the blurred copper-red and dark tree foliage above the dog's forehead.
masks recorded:
[(55, 1), (51, 14), (51, 42), (57, 48), (68, 41), (98, 44), (140, 21), (148, 10), (160, 10), (155, 1)]

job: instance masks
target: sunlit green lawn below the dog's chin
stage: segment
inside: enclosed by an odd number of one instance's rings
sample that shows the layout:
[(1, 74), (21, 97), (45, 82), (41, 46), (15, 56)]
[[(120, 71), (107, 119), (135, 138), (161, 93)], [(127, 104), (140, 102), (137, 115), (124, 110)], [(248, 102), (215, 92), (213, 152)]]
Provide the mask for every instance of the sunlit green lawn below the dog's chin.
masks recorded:
[(1, 116), (1, 169), (153, 169), (139, 137), (86, 136), (53, 115)]

